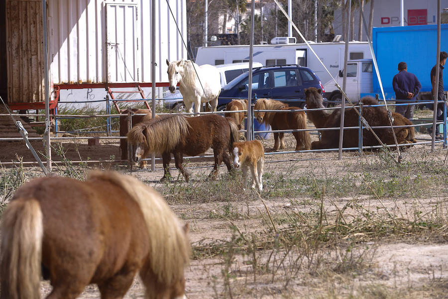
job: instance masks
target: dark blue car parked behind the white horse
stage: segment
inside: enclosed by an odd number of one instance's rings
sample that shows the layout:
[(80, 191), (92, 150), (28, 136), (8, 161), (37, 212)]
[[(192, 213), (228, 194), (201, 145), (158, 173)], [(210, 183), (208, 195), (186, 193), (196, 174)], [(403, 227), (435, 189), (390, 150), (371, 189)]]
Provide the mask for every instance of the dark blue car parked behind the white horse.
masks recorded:
[[(235, 98), (246, 98), (249, 73), (243, 73), (221, 90), (218, 110), (225, 110), (227, 103)], [(252, 100), (271, 98), (289, 106), (305, 107), (305, 88), (316, 87), (325, 92), (319, 77), (309, 68), (297, 64), (267, 66), (252, 71)], [(324, 99), (326, 105), (327, 99)]]

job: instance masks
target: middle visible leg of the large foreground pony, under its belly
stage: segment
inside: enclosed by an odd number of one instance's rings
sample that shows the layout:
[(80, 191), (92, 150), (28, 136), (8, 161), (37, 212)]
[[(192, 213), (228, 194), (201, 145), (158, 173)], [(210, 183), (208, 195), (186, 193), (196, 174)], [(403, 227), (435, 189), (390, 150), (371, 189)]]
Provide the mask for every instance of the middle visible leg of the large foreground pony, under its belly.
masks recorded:
[[(136, 265), (135, 265), (136, 266)], [(126, 295), (132, 282), (134, 281), (137, 267), (129, 267), (129, 269), (121, 269), (114, 277), (103, 284), (98, 285), (101, 293), (101, 299), (121, 299)]]

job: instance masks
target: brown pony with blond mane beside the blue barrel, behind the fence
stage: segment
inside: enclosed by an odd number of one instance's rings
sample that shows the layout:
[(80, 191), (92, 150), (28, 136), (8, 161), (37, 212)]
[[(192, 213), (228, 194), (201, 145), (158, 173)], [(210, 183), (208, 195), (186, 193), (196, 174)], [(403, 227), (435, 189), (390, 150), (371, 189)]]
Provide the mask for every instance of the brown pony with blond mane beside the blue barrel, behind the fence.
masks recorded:
[[(258, 99), (255, 110), (296, 110), (288, 104), (271, 99)], [(259, 123), (271, 125), (272, 130), (307, 129), (307, 115), (303, 111), (296, 112), (255, 112), (254, 117)], [(292, 132), (296, 138), (296, 150), (311, 149), (311, 139), (308, 131)], [(280, 142), (279, 142), (280, 138)], [(274, 150), (284, 149), (284, 133), (274, 133)]]

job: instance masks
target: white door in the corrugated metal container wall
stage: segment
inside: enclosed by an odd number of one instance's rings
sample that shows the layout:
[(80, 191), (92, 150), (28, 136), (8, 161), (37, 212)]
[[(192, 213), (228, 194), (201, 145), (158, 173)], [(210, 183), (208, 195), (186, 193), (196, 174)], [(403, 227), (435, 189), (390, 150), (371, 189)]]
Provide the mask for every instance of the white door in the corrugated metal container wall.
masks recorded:
[(106, 4), (109, 83), (140, 81), (137, 4)]

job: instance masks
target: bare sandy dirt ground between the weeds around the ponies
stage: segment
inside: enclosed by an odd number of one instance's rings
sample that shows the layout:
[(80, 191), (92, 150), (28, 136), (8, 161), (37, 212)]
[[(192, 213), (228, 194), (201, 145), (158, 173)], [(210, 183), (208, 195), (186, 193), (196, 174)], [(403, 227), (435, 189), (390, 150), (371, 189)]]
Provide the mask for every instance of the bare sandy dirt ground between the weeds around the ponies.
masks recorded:
[[(419, 141), (429, 141), (429, 135), (417, 134)], [(317, 140), (313, 135), (312, 140)], [(34, 143), (38, 151), (42, 151), (41, 143)], [(272, 137), (264, 142), (266, 153), (271, 152)], [(295, 140), (287, 135), (287, 149), (293, 150)], [(67, 159), (113, 159), (119, 156), (118, 143), (102, 142), (100, 146), (89, 147), (87, 141), (74, 145), (62, 144)], [(20, 142), (1, 145), (0, 160), (11, 161), (15, 153), (23, 156), (24, 161), (32, 161), (29, 151)], [(446, 150), (439, 144), (436, 153), (430, 153), (430, 146), (419, 145), (403, 153), (403, 161), (413, 163), (419, 158), (429, 156), (431, 159), (445, 163)], [(280, 188), (275, 178), (301, 178), (309, 173), (317, 180), (323, 177), (337, 176), (350, 180), (356, 177), (360, 163), (369, 164), (378, 160), (379, 153), (365, 153), (362, 156), (355, 151), (345, 152), (343, 159), (337, 160), (337, 152), (293, 153), (266, 155), (265, 164), (265, 192), (273, 192)], [(394, 153), (396, 158), (396, 154)], [(55, 160), (61, 157), (53, 154)], [(174, 163), (173, 163), (174, 164)], [(209, 172), (211, 162), (187, 162), (192, 167), (193, 177), (191, 185), (203, 183), (203, 177)], [(174, 165), (172, 165), (174, 166)], [(224, 166), (224, 165), (223, 165)], [(126, 172), (125, 167), (121, 171)], [(372, 171), (376, 171), (373, 169)], [(223, 179), (225, 167), (221, 167), (220, 175)], [(267, 229), (266, 211), (278, 220), (277, 225), (287, 229), (287, 222), (282, 217), (290, 215), (309, 215), (319, 206), (319, 198), (312, 195), (294, 195), (294, 192), (279, 193), (278, 196), (262, 196), (256, 199), (250, 190), (235, 191), (229, 199), (210, 199), (202, 201), (172, 200), (176, 197), (176, 183), (166, 185), (158, 180), (163, 171), (158, 168), (155, 172), (136, 170), (129, 172), (162, 192), (175, 213), (190, 224), (190, 239), (197, 250), (186, 269), (187, 298), (448, 298), (448, 242), (442, 234), (419, 233), (409, 234), (386, 233), (378, 238), (368, 237), (368, 233), (347, 235), (343, 240), (336, 240), (332, 245), (322, 245), (316, 250), (315, 261), (308, 265), (297, 264), (294, 260), (294, 249), (286, 252), (278, 249), (274, 256), (278, 262), (273, 262), (276, 271), (260, 269), (253, 271), (249, 263), (250, 252), (246, 249), (235, 252), (231, 256), (219, 254), (216, 251), (206, 253), (204, 248), (210, 244), (227, 246), (235, 238), (235, 227), (241, 234), (261, 234), (269, 232)], [(172, 174), (177, 177), (177, 170)], [(409, 175), (413, 175), (412, 173)], [(417, 176), (417, 174), (416, 174)], [(250, 177), (250, 175), (249, 175)], [(283, 181), (282, 181), (283, 182)], [(168, 187), (167, 187), (168, 186)], [(179, 182), (179, 188), (184, 188), (185, 182)], [(167, 188), (173, 188), (173, 194), (167, 194)], [(445, 186), (444, 186), (445, 187)], [(297, 184), (293, 188), (303, 188)], [(181, 190), (181, 189), (178, 189)], [(212, 189), (210, 189), (212, 190)], [(292, 191), (293, 189), (290, 189)], [(213, 191), (210, 191), (213, 192)], [(445, 225), (438, 232), (445, 232), (447, 227), (447, 198), (445, 188), (440, 192), (433, 191), (416, 196), (384, 196), (377, 197), (366, 194), (339, 194), (328, 190), (331, 195), (323, 195), (322, 207), (328, 221), (337, 219), (340, 210), (344, 210), (349, 217), (356, 218), (359, 207), (364, 210), (377, 210), (379, 215), (393, 213), (394, 220), (415, 219), (419, 214), (429, 215), (439, 211), (438, 219), (443, 219)], [(162, 192), (163, 193), (163, 192)], [(266, 194), (266, 193), (265, 193)], [(292, 195), (291, 195), (292, 194)], [(210, 194), (210, 198), (214, 194)], [(204, 194), (205, 197), (208, 194)], [(234, 199), (234, 198), (237, 199)], [(357, 206), (354, 206), (354, 204)], [(286, 214), (285, 214), (286, 213)], [(264, 215), (264, 216), (263, 216)], [(269, 215), (270, 217), (270, 215)], [(382, 216), (381, 216), (382, 217)], [(277, 221), (277, 220), (276, 220)], [(285, 224), (282, 224), (285, 223)], [(277, 229), (279, 229), (277, 227)], [(348, 239), (355, 241), (347, 242)], [(336, 245), (335, 245), (336, 244)], [(215, 248), (216, 249), (216, 248)], [(214, 249), (214, 250), (215, 250)], [(297, 248), (299, 252), (300, 249)], [(268, 265), (272, 253), (269, 249), (259, 249), (256, 257), (260, 265)], [(354, 261), (352, 263), (352, 261)], [(276, 264), (277, 263), (277, 264)], [(305, 262), (304, 262), (305, 263)], [(275, 264), (275, 265), (274, 265)], [(340, 269), (343, 265), (343, 270)], [(347, 266), (348, 265), (348, 266)], [(275, 268), (275, 267), (274, 267)], [(256, 277), (254, 275), (256, 274)], [(42, 282), (41, 295), (51, 292), (48, 282)], [(144, 289), (139, 279), (128, 291), (126, 299), (144, 298)], [(88, 286), (80, 298), (100, 298), (96, 286)]]

